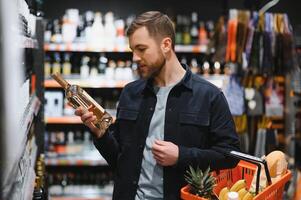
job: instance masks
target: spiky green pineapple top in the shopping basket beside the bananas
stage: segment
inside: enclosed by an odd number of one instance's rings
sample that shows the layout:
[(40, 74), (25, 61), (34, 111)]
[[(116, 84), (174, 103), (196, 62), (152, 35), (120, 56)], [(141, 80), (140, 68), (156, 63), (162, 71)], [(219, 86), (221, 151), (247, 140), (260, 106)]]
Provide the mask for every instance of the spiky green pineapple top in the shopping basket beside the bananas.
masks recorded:
[(210, 167), (203, 173), (199, 167), (194, 170), (193, 167), (189, 166), (189, 170), (186, 173), (184, 178), (189, 184), (191, 194), (207, 199), (214, 198), (215, 177), (210, 173)]

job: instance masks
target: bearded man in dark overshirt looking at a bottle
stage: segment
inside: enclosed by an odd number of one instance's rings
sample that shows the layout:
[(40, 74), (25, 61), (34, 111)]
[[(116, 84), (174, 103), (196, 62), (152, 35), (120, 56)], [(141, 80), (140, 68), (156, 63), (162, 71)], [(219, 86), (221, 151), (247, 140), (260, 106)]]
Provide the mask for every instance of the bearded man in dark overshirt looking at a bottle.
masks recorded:
[(102, 135), (93, 113), (76, 115), (115, 170), (113, 199), (179, 199), (189, 165), (236, 165), (221, 153), (239, 150), (234, 122), (222, 92), (179, 63), (166, 15), (143, 13), (127, 35), (141, 79), (123, 89), (116, 122)]

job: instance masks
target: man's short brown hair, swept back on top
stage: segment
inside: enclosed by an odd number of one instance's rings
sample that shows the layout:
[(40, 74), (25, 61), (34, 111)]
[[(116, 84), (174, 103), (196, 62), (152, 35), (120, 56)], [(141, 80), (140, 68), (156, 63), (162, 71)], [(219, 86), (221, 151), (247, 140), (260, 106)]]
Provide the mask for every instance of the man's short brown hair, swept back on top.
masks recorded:
[(154, 38), (169, 37), (172, 48), (175, 46), (175, 29), (170, 18), (159, 11), (148, 11), (139, 15), (128, 27), (126, 34), (131, 36), (138, 28), (146, 27)]

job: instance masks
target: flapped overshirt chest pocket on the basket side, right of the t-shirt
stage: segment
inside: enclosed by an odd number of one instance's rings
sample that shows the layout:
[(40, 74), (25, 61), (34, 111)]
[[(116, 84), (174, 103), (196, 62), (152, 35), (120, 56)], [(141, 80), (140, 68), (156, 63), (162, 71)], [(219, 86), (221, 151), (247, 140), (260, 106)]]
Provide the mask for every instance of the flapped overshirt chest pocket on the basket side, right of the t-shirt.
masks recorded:
[(180, 142), (189, 147), (205, 147), (209, 133), (209, 113), (181, 112), (179, 115)]

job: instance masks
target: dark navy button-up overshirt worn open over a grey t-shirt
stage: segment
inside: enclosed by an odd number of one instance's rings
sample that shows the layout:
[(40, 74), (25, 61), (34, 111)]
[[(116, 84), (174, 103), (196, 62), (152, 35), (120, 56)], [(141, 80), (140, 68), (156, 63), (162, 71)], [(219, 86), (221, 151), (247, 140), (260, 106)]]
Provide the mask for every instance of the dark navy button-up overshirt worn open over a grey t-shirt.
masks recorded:
[[(205, 170), (232, 168), (237, 160), (221, 152), (239, 151), (227, 101), (220, 89), (192, 74), (187, 66), (185, 76), (170, 91), (165, 114), (164, 140), (179, 147), (178, 162), (163, 168), (164, 199), (180, 199), (186, 185), (189, 165)], [(113, 199), (133, 200), (136, 194), (143, 149), (156, 95), (152, 80), (137, 80), (122, 90), (116, 122), (94, 144), (114, 169)]]

